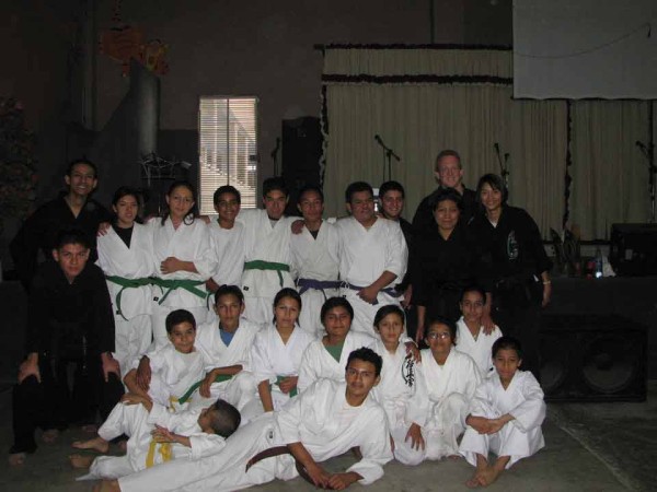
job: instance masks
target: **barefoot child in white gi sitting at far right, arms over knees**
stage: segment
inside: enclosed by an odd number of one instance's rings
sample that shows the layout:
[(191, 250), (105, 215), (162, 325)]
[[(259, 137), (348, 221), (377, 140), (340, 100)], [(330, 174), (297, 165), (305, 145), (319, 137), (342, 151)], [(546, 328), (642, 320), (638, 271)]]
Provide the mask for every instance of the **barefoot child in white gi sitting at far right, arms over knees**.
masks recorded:
[[(470, 488), (486, 487), (522, 458), (545, 445), (541, 424), (545, 419), (543, 390), (522, 363), (520, 342), (502, 337), (493, 344), (493, 364), (497, 376), (486, 378), (476, 389), (468, 430), (459, 452), (476, 466)], [(488, 453), (497, 455), (488, 462)]]

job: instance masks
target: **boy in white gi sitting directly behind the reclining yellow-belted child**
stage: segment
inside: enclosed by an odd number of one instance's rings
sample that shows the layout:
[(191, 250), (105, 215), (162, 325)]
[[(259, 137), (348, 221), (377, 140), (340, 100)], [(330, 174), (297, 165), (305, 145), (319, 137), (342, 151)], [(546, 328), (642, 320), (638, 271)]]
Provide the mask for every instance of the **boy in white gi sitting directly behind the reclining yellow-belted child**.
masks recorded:
[(186, 309), (166, 316), (166, 336), (171, 343), (154, 349), (130, 370), (124, 383), (128, 391), (148, 398), (174, 411), (181, 410), (177, 399), (205, 376), (205, 358), (198, 352), (196, 320)]

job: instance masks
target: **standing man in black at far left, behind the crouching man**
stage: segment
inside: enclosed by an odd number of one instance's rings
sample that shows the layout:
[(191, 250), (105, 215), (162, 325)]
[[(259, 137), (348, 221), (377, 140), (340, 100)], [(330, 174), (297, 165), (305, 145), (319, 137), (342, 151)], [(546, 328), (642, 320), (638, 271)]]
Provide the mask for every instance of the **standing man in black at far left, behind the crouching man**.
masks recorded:
[(95, 165), (88, 160), (69, 164), (64, 177), (68, 190), (39, 207), (23, 224), (10, 245), (19, 279), (28, 290), (37, 268), (38, 251), (49, 259), (57, 233), (66, 227), (82, 230), (91, 239), (91, 261), (95, 261), (95, 235), (111, 213), (90, 198), (99, 184)]

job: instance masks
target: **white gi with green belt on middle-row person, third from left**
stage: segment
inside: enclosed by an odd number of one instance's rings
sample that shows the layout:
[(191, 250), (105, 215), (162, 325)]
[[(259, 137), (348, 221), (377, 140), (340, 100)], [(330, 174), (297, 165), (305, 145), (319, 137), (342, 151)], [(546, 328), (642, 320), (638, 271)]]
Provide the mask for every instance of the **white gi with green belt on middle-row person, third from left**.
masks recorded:
[[(276, 384), (277, 377), (299, 374), (303, 351), (313, 340), (307, 331), (296, 327), (287, 343), (284, 343), (274, 324), (263, 327), (255, 336), (249, 365), (256, 387), (263, 380), (268, 380), (272, 385), (274, 410), (279, 410), (291, 398), (289, 394), (286, 395), (280, 390)], [(263, 412), (263, 403), (256, 390), (253, 398), (243, 408), (242, 418), (249, 421)]]

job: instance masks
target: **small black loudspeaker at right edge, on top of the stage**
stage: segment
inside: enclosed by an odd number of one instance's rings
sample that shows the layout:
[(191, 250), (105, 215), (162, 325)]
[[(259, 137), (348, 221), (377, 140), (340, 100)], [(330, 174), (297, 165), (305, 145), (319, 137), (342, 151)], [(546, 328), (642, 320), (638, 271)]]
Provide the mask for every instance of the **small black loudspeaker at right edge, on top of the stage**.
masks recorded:
[(619, 276), (657, 274), (657, 224), (612, 224), (609, 261)]

